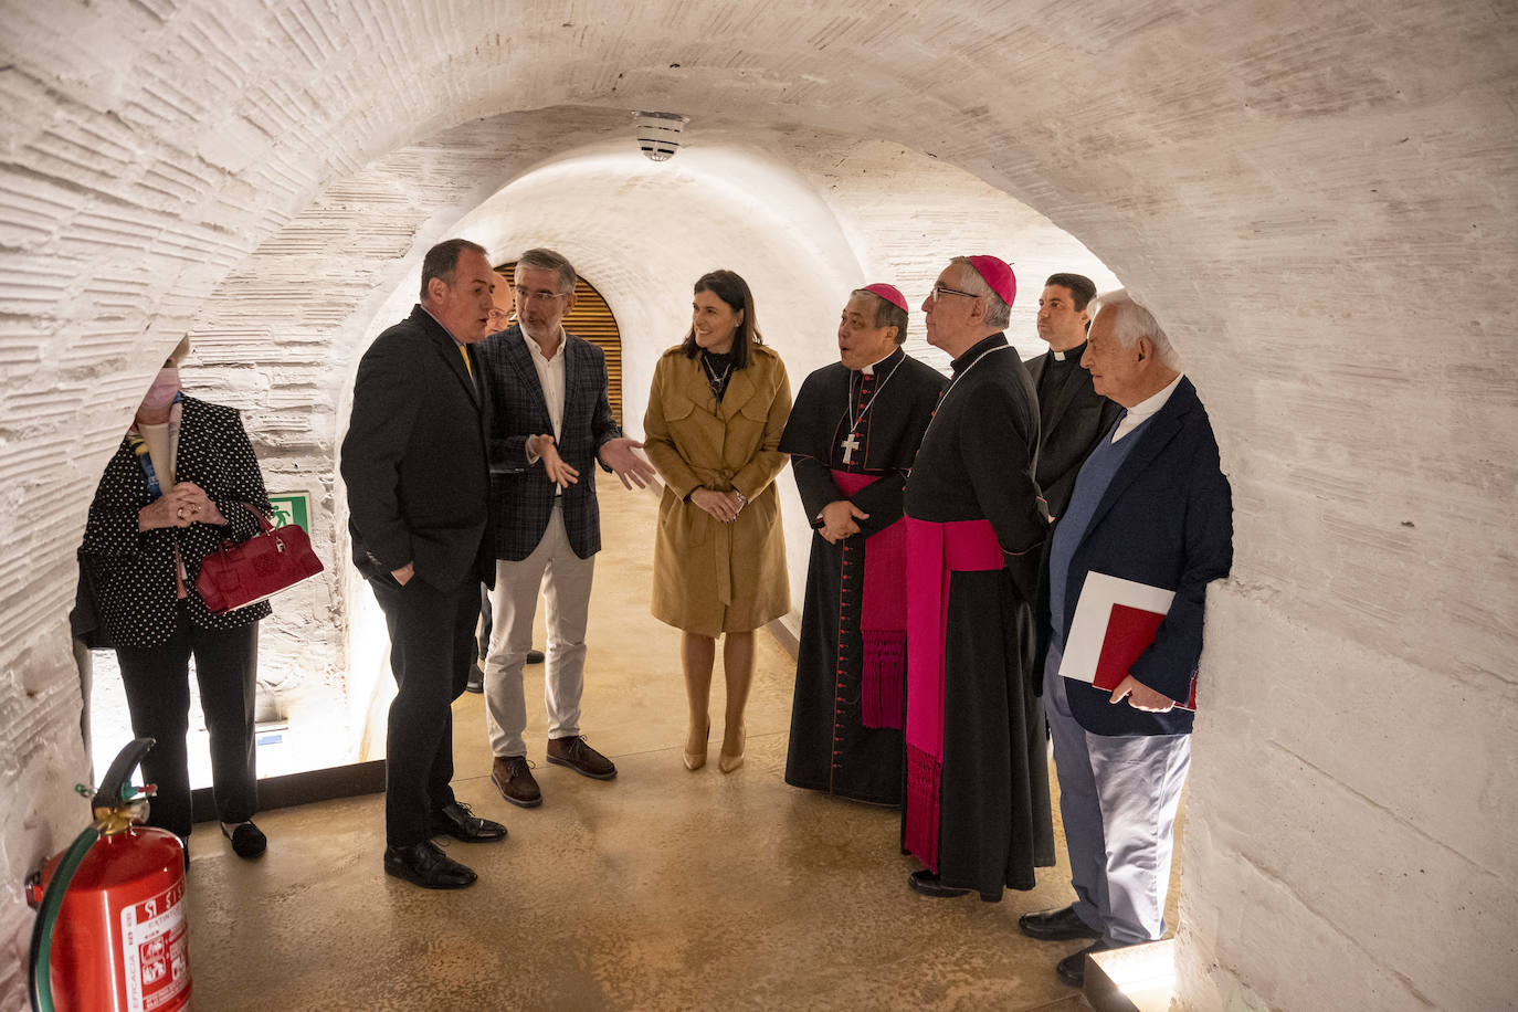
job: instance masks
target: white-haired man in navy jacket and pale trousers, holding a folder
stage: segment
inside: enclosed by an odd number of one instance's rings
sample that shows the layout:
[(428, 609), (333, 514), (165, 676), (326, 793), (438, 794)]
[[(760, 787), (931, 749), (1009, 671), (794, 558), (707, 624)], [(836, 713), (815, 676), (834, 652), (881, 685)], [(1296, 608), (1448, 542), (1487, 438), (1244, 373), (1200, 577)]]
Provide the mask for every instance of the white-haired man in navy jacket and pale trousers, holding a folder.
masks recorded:
[[(1207, 411), (1154, 316), (1101, 297), (1081, 364), (1125, 411), (1081, 467), (1049, 542), (1040, 595), (1044, 712), (1070, 851), (1067, 907), (1028, 913), (1025, 935), (1094, 939), (1060, 960), (1079, 986), (1087, 953), (1164, 933), (1175, 810), (1192, 754), (1186, 704), (1202, 652), (1207, 584), (1233, 563), (1233, 499)], [(1061, 677), (1087, 578), (1173, 590), (1154, 643), (1114, 690)]]

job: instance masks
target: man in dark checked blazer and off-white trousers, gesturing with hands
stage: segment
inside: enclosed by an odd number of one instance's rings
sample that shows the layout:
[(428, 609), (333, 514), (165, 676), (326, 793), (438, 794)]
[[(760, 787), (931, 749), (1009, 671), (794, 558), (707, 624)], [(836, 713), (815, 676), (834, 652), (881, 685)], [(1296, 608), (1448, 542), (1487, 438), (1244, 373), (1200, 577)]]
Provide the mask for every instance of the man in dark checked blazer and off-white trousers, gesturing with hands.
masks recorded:
[(584, 633), (591, 578), (601, 549), (595, 466), (642, 489), (653, 466), (612, 419), (606, 355), (563, 329), (574, 308), (575, 270), (548, 249), (516, 261), (518, 323), (480, 346), (495, 407), (490, 431), (490, 523), (496, 572), (490, 649), (484, 665), (490, 780), (507, 801), (534, 807), (542, 792), (527, 762), (522, 665), (537, 598), (546, 602), (548, 762), (595, 780), (616, 766), (580, 734)]

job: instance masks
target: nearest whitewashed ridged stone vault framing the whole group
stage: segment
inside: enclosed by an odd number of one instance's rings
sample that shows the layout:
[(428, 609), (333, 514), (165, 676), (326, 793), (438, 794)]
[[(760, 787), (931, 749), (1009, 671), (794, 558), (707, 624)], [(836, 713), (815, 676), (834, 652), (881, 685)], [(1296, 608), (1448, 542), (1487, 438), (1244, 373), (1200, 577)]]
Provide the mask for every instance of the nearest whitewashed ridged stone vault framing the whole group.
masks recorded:
[[(1510, 995), (1492, 941), (1518, 929), (1510, 11), (105, 0), (12, 2), (0, 26), (12, 880), (77, 822), (70, 558), (164, 350), (199, 328), (203, 355), (247, 366), (228, 382), (264, 384), (299, 429), (302, 398), (249, 341), (360, 341), (428, 241), (659, 108), (694, 137), (842, 135), (967, 170), (1085, 243), (1178, 335), (1237, 526), (1234, 577), (1210, 595), (1183, 1001)], [(498, 117), (559, 106), (584, 121), (515, 132), (525, 152), (501, 158)], [(471, 129), (474, 147), (427, 144)], [(339, 181), (392, 185), (407, 226), (323, 231)], [(343, 287), (308, 299), (358, 235)], [(250, 302), (231, 294), (243, 270)], [(226, 311), (206, 313), (219, 287)], [(310, 393), (335, 425), (328, 379)], [(0, 906), (11, 953), (26, 919)], [(8, 995), (15, 980), (0, 976)]]

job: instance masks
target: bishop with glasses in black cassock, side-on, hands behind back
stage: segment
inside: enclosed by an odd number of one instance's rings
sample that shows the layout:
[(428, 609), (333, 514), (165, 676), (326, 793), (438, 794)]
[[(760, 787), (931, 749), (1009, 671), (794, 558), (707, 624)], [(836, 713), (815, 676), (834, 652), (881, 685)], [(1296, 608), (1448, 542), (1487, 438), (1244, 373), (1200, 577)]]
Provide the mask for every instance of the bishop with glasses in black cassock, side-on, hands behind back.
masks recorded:
[(1032, 599), (1049, 514), (1038, 407), (1000, 328), (1016, 293), (994, 256), (956, 258), (923, 303), (953, 355), (906, 482), (908, 692), (902, 847), (931, 897), (1032, 889), (1053, 865)]

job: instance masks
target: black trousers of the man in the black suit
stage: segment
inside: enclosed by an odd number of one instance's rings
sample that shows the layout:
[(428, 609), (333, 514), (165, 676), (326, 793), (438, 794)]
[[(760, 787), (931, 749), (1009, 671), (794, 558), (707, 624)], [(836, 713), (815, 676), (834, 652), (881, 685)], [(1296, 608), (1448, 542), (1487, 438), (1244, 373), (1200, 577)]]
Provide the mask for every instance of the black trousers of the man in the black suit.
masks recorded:
[(446, 592), (420, 577), (402, 587), (366, 575), (390, 630), (396, 696), (386, 731), (386, 844), (411, 847), (433, 836), (433, 813), (454, 801), (454, 713), (469, 681), (480, 618), (472, 575)]

